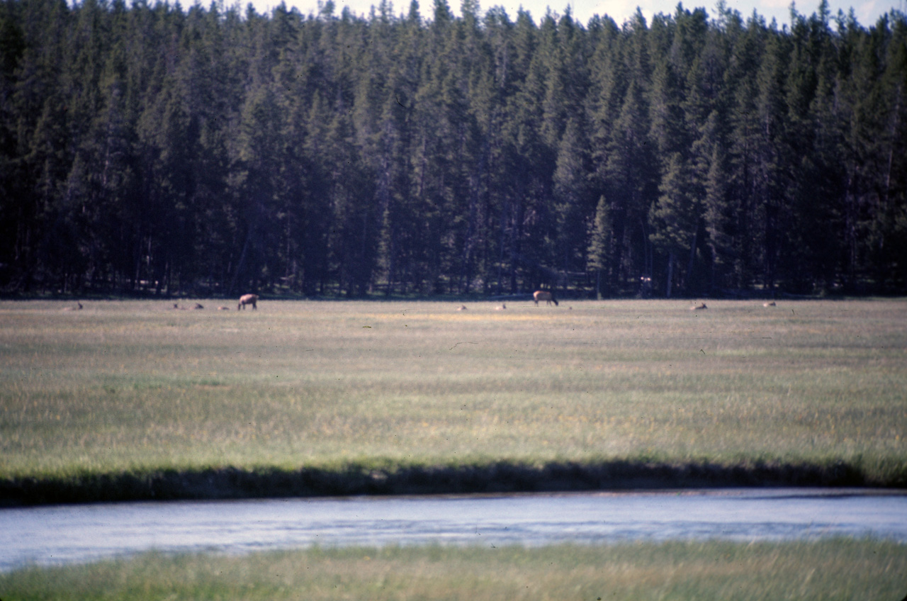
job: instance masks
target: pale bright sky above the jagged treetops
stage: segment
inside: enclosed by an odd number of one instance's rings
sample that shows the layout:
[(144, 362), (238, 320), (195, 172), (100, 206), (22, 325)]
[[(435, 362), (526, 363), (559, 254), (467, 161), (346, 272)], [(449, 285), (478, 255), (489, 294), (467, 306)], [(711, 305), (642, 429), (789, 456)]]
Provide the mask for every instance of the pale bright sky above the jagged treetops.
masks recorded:
[[(259, 14), (269, 14), (280, 0), (240, 0), (240, 6), (248, 2), (255, 6)], [(303, 15), (317, 14), (319, 0), (284, 0), (288, 8), (296, 7)], [(380, 0), (334, 0), (336, 5), (335, 15), (340, 15), (344, 8), (349, 7), (354, 15), (368, 16), (372, 5), (378, 5)], [(203, 3), (204, 4), (204, 3)], [(225, 4), (230, 5), (229, 1)], [(395, 0), (394, 12), (397, 15), (409, 10), (410, 0)], [(447, 0), (454, 15), (460, 15), (460, 0)], [(678, 5), (678, 0), (480, 0), (482, 11), (492, 6), (502, 6), (510, 16), (511, 21), (516, 20), (520, 7), (528, 10), (536, 23), (539, 22), (547, 10), (562, 15), (567, 7), (571, 6), (573, 16), (583, 24), (589, 22), (592, 15), (610, 15), (618, 24), (622, 24), (630, 15), (636, 12), (637, 7), (642, 10), (647, 21), (652, 15), (658, 13), (672, 14)], [(686, 0), (684, 8), (705, 8), (709, 17), (715, 16), (717, 0)], [(791, 0), (726, 0), (729, 8), (738, 11), (743, 17), (753, 14), (753, 11), (766, 18), (766, 23), (771, 23), (775, 18), (777, 25), (790, 24)], [(419, 7), (423, 17), (432, 15), (434, 0), (419, 0)], [(819, 0), (798, 0), (796, 10), (802, 15), (812, 15), (819, 6)], [(907, 10), (907, 0), (829, 0), (832, 15), (837, 15), (838, 10), (844, 14), (853, 14), (860, 25), (874, 25), (881, 15), (888, 13), (892, 8), (900, 11)]]

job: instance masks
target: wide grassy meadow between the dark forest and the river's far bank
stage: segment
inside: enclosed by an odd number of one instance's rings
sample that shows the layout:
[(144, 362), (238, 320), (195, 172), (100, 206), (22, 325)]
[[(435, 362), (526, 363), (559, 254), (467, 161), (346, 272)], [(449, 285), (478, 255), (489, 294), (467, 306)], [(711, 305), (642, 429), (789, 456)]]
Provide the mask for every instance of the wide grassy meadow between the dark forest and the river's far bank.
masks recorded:
[(907, 474), (904, 300), (202, 302), (0, 302), (0, 478), (614, 458)]

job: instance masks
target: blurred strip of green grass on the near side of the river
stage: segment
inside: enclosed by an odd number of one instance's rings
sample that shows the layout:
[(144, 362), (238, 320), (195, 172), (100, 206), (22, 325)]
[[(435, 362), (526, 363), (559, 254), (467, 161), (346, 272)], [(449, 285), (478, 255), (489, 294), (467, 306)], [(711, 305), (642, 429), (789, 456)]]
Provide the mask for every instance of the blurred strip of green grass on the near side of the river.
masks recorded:
[(873, 540), (146, 554), (0, 574), (24, 599), (865, 599), (903, 596), (907, 547)]

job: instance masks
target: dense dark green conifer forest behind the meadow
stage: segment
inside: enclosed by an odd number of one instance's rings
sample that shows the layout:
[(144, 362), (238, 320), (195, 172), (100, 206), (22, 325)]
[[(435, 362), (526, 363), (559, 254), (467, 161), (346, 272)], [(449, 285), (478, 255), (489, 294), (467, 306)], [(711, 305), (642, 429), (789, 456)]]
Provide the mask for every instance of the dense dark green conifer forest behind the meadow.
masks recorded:
[(907, 291), (898, 11), (0, 2), (7, 294)]

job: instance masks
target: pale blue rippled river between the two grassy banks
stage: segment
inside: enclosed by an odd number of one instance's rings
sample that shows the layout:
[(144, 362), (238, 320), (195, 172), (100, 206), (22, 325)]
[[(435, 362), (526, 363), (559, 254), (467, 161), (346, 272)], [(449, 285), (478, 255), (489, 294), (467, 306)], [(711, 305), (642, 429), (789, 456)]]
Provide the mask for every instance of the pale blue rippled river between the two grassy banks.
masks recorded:
[(285, 498), (0, 509), (0, 570), (164, 552), (723, 538), (907, 543), (907, 492), (753, 488), (466, 497)]

